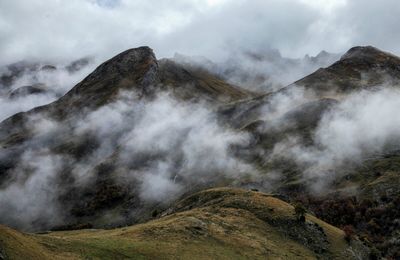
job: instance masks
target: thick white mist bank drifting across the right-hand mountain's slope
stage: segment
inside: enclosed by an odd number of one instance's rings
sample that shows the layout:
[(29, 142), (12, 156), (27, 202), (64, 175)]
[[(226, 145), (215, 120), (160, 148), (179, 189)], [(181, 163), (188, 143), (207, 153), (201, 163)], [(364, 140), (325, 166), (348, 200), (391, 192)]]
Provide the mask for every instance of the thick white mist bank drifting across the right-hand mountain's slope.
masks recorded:
[[(282, 102), (276, 106), (283, 107), (278, 110), (279, 115), (288, 111), (285, 104), (309, 101), (302, 99), (299, 91), (296, 100), (288, 99), (288, 96), (275, 100)], [(386, 85), (372, 91), (354, 92), (323, 113), (313, 131), (312, 145), (296, 134), (289, 135), (275, 144), (267, 158), (283, 157), (296, 162), (302, 167), (303, 179), (309, 189), (324, 193), (332, 181), (351, 167), (398, 151), (400, 121), (395, 115), (400, 108), (399, 100), (399, 90)], [(284, 128), (288, 123), (279, 119), (283, 117), (274, 118), (275, 121), (269, 121), (272, 128)]]

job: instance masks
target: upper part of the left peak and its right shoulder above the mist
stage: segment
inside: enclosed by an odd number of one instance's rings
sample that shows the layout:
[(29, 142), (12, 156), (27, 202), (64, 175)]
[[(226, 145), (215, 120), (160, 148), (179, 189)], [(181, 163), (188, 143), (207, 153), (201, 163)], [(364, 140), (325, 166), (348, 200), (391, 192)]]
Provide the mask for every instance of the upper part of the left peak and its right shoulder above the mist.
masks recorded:
[(250, 96), (249, 92), (231, 86), (209, 72), (189, 72), (168, 60), (162, 60), (160, 64), (148, 47), (122, 52), (101, 64), (59, 100), (2, 122), (0, 136), (10, 128), (21, 127), (23, 118), (27, 116), (46, 113), (56, 119), (65, 119), (68, 115), (75, 116), (105, 105), (123, 90), (133, 90), (139, 97), (151, 97), (168, 86), (174, 94), (185, 99), (198, 99), (200, 96), (226, 102)]

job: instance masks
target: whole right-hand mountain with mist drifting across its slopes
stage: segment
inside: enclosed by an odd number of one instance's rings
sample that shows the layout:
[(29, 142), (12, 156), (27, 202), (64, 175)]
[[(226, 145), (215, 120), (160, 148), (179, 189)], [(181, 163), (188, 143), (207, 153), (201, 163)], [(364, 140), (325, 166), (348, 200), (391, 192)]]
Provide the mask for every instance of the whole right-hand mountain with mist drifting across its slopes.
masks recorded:
[[(376, 246), (383, 255), (396, 259), (400, 256), (396, 242), (399, 238), (396, 220), (399, 211), (395, 207), (399, 191), (396, 185), (400, 179), (400, 144), (398, 137), (395, 137), (396, 133), (393, 136), (388, 135), (389, 141), (380, 149), (375, 149), (377, 146), (368, 148), (373, 139), (361, 140), (364, 153), (360, 155), (361, 158), (349, 156), (345, 159), (346, 162), (332, 159), (329, 162), (331, 168), (312, 168), (313, 172), (309, 175), (307, 171), (310, 171), (310, 165), (318, 167), (318, 163), (333, 154), (332, 151), (322, 152), (323, 156), (319, 153), (323, 151), (324, 144), (321, 144), (318, 139), (321, 135), (318, 136), (316, 132), (320, 131), (321, 134), (320, 120), (324, 115), (329, 115), (330, 111), (340, 111), (338, 107), (342, 100), (351, 95), (369, 93), (368, 95), (373, 96), (382, 89), (396, 90), (399, 85), (400, 58), (373, 47), (354, 47), (332, 66), (319, 69), (276, 93), (230, 104), (223, 113), (227, 115), (228, 121), (233, 119), (234, 126), (252, 133), (254, 137), (254, 142), (242, 154), (254, 160), (266, 176), (272, 174), (273, 178), (276, 172), (280, 173), (280, 180), (273, 182), (275, 190), (289, 195), (293, 201), (303, 201), (318, 217), (329, 223), (340, 227), (354, 227), (365, 241)], [(300, 91), (296, 91), (298, 89)], [(296, 98), (298, 96), (300, 98)], [(385, 99), (380, 101), (380, 106), (386, 104), (388, 98)], [(293, 105), (278, 111), (280, 114), (275, 117), (268, 117), (267, 112), (276, 112), (274, 108), (279, 104), (277, 100), (289, 100)], [(356, 100), (351, 99), (353, 103), (347, 102), (350, 110), (346, 110), (342, 118), (357, 109), (354, 103)], [(368, 101), (359, 102), (368, 106)], [(397, 108), (398, 105), (394, 105), (391, 109), (395, 111)], [(341, 147), (338, 148), (341, 151), (357, 149), (347, 147), (346, 144), (357, 139), (357, 135), (361, 135), (363, 131), (368, 133), (373, 131), (373, 127), (380, 126), (379, 120), (374, 120), (374, 111), (363, 111), (363, 115), (357, 116), (369, 118), (369, 122), (366, 121), (368, 126), (350, 136), (347, 143), (341, 142)], [(392, 118), (392, 112), (386, 112)], [(345, 122), (349, 122), (351, 128), (357, 122), (354, 117), (350, 118), (349, 121), (345, 119), (338, 123), (342, 123), (343, 127)], [(333, 125), (335, 126), (340, 127)], [(385, 131), (389, 131), (389, 128), (382, 130), (376, 138), (384, 138)], [(295, 156), (290, 155), (294, 149), (299, 150)], [(311, 155), (307, 154), (310, 151)], [(307, 158), (307, 161), (297, 160), (302, 157)], [(317, 194), (304, 193), (310, 190), (310, 186), (313, 187), (313, 183), (325, 183), (325, 186), (319, 188)], [(252, 183), (252, 186), (258, 187), (257, 183)]]

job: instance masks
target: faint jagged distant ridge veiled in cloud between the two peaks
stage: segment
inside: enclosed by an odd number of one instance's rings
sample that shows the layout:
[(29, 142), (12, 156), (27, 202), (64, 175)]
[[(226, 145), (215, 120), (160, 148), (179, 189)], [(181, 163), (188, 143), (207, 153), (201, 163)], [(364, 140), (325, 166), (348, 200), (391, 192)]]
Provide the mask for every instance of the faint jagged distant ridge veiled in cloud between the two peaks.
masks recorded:
[(216, 73), (225, 81), (257, 93), (278, 90), (320, 67), (326, 67), (340, 58), (339, 54), (321, 51), (317, 56), (301, 59), (283, 57), (278, 50), (241, 50), (228, 58), (212, 62), (204, 57), (175, 54), (173, 60), (186, 68), (203, 68)]

